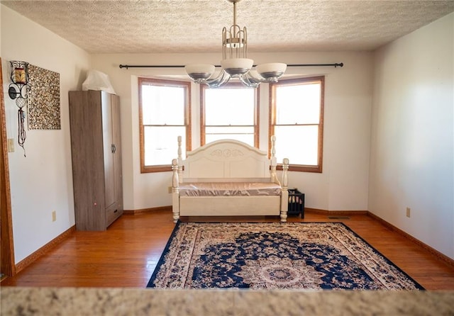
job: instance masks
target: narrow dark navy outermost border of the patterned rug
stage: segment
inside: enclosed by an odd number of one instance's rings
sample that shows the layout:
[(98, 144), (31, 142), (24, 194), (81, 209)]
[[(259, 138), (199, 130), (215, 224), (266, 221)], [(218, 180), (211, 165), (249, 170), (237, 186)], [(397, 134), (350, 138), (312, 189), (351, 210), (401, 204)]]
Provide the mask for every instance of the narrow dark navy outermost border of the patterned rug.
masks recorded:
[[(172, 239), (177, 234), (177, 230), (179, 229), (179, 225), (182, 224), (182, 223), (189, 223), (189, 222), (181, 222), (180, 220), (178, 220), (178, 222), (175, 224), (175, 227), (172, 230), (172, 234), (170, 235), (169, 239), (167, 240), (167, 244), (165, 245), (165, 248), (162, 251), (162, 254), (160, 256), (159, 261), (157, 261), (157, 264), (155, 266), (155, 270), (153, 271), (153, 274), (151, 275), (150, 280), (148, 281), (146, 288), (155, 288), (155, 285), (153, 284), (153, 282), (155, 281), (156, 275), (157, 275), (157, 273), (160, 270), (158, 268), (164, 263), (165, 255), (167, 254), (167, 252), (169, 252), (169, 248), (170, 248), (170, 244), (172, 243)], [(192, 222), (192, 223), (196, 223), (196, 224), (220, 224), (220, 223), (223, 223), (223, 224), (235, 224), (235, 223), (238, 223), (238, 222)], [(245, 224), (270, 224), (271, 222), (243, 222), (243, 223), (245, 223)], [(279, 223), (282, 224), (282, 225), (286, 225), (287, 224), (287, 222), (279, 222)], [(397, 266), (397, 264), (394, 264), (394, 262), (392, 262), (390, 259), (388, 259), (387, 256), (384, 256), (384, 254), (382, 254), (380, 251), (378, 251), (375, 247), (372, 246), (372, 244), (370, 244), (364, 238), (362, 238), (360, 235), (358, 235), (358, 233), (356, 233), (354, 230), (352, 230), (344, 222), (292, 222), (292, 223), (295, 223), (295, 224), (330, 224), (330, 223), (331, 224), (333, 224), (333, 223), (341, 224), (341, 225), (343, 225), (343, 227), (345, 227), (347, 230), (349, 230), (355, 237), (361, 239), (362, 242), (367, 244), (367, 246), (369, 246), (376, 254), (382, 256), (382, 259), (384, 259), (384, 261), (386, 261), (387, 264), (390, 264), (390, 265), (394, 266), (397, 270), (399, 270), (399, 272), (403, 273), (404, 276), (409, 278), (415, 284), (415, 287), (417, 288), (417, 290), (426, 290), (426, 288), (423, 288), (423, 286), (421, 286), (421, 284), (419, 284), (414, 278), (409, 276), (408, 273), (406, 273), (399, 266)]]

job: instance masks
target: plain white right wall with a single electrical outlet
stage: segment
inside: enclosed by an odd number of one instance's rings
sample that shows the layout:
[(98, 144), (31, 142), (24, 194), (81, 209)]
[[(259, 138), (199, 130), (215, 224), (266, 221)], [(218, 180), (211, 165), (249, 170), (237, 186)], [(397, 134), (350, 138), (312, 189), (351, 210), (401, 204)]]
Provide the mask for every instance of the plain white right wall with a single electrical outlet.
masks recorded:
[(377, 50), (369, 193), (372, 213), (452, 259), (453, 33), (451, 13)]

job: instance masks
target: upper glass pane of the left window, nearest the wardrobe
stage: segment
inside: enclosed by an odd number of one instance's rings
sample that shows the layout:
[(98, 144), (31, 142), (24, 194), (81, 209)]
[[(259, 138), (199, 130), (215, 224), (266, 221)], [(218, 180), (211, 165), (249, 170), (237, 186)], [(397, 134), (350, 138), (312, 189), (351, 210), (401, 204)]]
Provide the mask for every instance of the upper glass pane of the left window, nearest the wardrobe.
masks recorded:
[(185, 88), (142, 86), (144, 125), (184, 125)]

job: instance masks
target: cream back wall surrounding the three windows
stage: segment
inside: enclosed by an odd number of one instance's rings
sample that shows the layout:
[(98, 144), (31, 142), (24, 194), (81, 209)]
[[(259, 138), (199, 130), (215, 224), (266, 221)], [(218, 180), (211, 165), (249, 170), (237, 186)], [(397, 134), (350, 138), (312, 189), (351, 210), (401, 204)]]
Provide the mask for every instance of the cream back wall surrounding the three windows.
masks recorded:
[[(292, 76), (326, 75), (325, 130), (323, 174), (289, 175), (289, 185), (306, 193), (306, 206), (324, 210), (367, 210), (367, 179), (370, 151), (370, 108), (372, 105), (372, 53), (279, 53), (253, 54), (256, 63), (287, 62), (287, 64), (344, 62), (343, 68), (289, 68)], [(218, 64), (219, 54), (206, 55), (94, 55), (93, 67), (109, 74), (116, 92), (121, 96), (123, 141), (123, 191), (127, 210), (170, 205), (167, 186), (169, 172), (140, 174), (137, 76), (184, 76), (184, 69), (130, 68), (119, 64)], [(131, 92), (132, 91), (132, 92)], [(267, 85), (261, 89), (260, 148), (267, 149)], [(199, 146), (199, 88), (192, 86), (193, 148)], [(277, 140), (279, 141), (279, 140)], [(294, 140), (298, 145), (297, 138)], [(176, 146), (176, 142), (175, 142)], [(176, 149), (175, 149), (176, 152)]]

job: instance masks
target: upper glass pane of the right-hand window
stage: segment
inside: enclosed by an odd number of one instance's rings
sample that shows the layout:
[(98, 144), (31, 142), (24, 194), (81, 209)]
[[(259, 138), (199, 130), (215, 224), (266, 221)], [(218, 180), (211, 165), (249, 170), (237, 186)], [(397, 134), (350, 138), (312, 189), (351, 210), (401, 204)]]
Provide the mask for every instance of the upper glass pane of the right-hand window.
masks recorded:
[(321, 85), (276, 87), (276, 124), (318, 124)]

